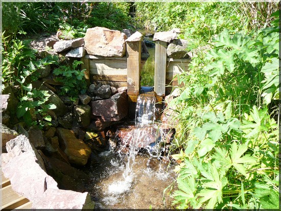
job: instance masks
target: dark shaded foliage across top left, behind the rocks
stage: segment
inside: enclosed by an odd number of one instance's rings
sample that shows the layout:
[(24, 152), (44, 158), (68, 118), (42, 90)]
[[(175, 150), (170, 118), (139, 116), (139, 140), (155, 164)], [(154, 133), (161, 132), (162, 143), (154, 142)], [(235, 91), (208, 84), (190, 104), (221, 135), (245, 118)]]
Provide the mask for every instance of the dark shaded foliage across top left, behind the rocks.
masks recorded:
[(122, 30), (130, 22), (129, 3), (3, 2), (2, 5), (3, 31), (8, 35), (20, 30), (49, 33), (60, 29), (69, 39), (82, 36), (87, 28)]

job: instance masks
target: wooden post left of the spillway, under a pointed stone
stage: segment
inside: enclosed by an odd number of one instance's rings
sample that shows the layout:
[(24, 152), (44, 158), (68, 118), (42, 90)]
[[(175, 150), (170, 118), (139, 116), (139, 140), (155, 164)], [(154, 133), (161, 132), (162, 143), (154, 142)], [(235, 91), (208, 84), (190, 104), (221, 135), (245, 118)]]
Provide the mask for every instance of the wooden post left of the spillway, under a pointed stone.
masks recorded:
[(141, 41), (126, 43), (127, 46), (127, 87), (128, 95), (138, 96), (140, 90), (140, 68), (141, 68)]

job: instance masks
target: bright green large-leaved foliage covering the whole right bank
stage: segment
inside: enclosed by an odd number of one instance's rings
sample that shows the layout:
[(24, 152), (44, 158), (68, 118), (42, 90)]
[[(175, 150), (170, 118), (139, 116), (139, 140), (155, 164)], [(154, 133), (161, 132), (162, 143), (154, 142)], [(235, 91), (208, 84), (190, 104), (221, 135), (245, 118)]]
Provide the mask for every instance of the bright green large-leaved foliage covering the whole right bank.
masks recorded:
[(223, 30), (178, 78), (184, 87), (169, 107), (179, 208), (278, 207), (278, 22), (271, 26)]

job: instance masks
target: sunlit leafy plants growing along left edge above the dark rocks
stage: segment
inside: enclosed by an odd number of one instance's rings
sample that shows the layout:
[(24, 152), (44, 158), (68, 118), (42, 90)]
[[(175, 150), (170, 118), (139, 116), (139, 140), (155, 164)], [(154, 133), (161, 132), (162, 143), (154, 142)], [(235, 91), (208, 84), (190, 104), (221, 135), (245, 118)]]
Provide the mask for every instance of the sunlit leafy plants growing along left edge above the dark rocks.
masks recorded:
[[(50, 95), (48, 91), (34, 89), (32, 82), (38, 79), (38, 71), (45, 65), (56, 63), (56, 58), (46, 57), (36, 60), (35, 51), (27, 47), (28, 43), (19, 40), (7, 40), (2, 34), (3, 60), (2, 60), (2, 81), (4, 84), (19, 86), (17, 94), (19, 103), (16, 116), (23, 118), (28, 126), (35, 125), (32, 115), (39, 113), (44, 120), (51, 121), (47, 114), (49, 109), (55, 109), (55, 105), (46, 104)], [(40, 121), (39, 121), (40, 124)]]

